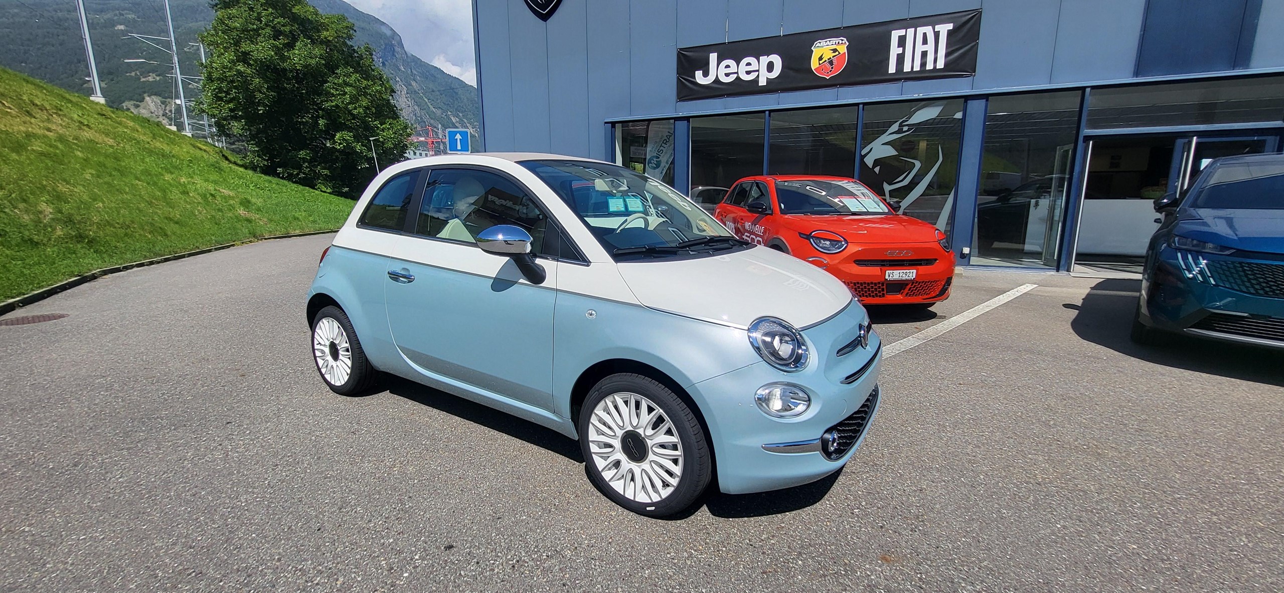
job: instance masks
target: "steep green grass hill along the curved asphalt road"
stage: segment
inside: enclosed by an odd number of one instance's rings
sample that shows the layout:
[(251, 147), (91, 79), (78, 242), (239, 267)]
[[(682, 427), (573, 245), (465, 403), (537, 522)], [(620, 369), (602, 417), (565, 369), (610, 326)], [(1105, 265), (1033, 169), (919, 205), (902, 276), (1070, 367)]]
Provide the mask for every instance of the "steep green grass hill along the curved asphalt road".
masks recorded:
[(0, 300), (103, 267), (338, 228), (352, 211), (231, 158), (0, 68)]

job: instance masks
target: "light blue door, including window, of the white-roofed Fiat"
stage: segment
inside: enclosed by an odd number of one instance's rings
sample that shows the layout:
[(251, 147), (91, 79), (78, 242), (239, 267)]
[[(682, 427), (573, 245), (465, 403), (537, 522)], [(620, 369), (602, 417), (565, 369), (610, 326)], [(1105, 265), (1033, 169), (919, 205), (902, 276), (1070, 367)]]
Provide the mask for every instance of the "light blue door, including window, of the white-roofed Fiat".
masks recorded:
[[(416, 216), (388, 264), (397, 349), (429, 379), (552, 409), (557, 226), (529, 190), (485, 167), (433, 168)], [(476, 234), (494, 225), (530, 234), (543, 284), (476, 245)]]

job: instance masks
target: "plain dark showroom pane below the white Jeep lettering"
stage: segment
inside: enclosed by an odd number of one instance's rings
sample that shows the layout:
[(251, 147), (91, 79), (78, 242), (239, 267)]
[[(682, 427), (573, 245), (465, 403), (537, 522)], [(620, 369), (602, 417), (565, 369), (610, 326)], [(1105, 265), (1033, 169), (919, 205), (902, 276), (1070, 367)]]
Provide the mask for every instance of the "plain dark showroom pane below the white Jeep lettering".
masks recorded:
[[(691, 119), (691, 195), (763, 175), (761, 113)], [(716, 190), (707, 190), (715, 194)]]

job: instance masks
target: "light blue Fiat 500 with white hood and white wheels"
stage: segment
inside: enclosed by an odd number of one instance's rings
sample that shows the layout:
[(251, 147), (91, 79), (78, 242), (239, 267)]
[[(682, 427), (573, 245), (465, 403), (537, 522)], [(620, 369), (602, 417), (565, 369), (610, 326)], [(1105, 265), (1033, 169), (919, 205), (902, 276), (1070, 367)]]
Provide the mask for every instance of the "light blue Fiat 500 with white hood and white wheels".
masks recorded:
[(823, 477), (878, 411), (880, 339), (842, 282), (597, 160), (389, 167), (321, 255), (307, 316), (335, 393), (390, 374), (548, 426), (647, 516), (715, 479)]

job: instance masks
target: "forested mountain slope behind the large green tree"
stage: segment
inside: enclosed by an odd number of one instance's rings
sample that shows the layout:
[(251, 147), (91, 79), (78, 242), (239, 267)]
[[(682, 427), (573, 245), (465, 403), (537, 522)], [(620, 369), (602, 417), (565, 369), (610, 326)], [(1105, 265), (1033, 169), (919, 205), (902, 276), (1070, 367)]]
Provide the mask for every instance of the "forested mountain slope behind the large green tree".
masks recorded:
[[(370, 45), (375, 62), (397, 90), (394, 101), (416, 128), (433, 126), (478, 130), (476, 89), (406, 51), (401, 36), (383, 21), (342, 0), (311, 0), (318, 10), (343, 14), (356, 24), (354, 44)], [(180, 65), (185, 76), (199, 74), (196, 33), (213, 19), (208, 0), (171, 0)], [(173, 109), (169, 54), (127, 33), (168, 36), (160, 0), (94, 0), (86, 5), (103, 95), (112, 107), (126, 107), (155, 117)], [(166, 41), (152, 40), (160, 45)], [(155, 62), (132, 62), (145, 59)], [(71, 0), (23, 0), (0, 4), (0, 65), (89, 95), (85, 49), (76, 4)], [(189, 90), (189, 99), (193, 90)], [(150, 101), (146, 96), (164, 98)], [(149, 103), (144, 105), (145, 103)]]

